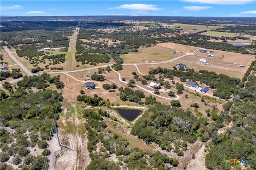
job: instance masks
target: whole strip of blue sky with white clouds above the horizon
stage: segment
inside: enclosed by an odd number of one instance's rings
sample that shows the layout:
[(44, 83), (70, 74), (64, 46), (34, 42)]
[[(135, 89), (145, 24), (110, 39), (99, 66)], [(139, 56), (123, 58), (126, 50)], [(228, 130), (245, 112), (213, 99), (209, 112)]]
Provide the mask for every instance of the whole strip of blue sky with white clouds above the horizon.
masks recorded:
[(1, 1), (1, 15), (254, 16), (256, 0)]

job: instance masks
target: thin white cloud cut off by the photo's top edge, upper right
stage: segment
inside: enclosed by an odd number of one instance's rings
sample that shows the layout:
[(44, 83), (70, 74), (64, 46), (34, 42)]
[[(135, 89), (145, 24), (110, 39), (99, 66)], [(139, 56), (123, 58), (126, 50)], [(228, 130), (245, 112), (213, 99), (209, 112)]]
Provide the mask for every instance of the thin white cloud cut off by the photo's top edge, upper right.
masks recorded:
[(185, 2), (192, 3), (202, 3), (202, 4), (220, 4), (220, 5), (230, 5), (230, 4), (247, 4), (254, 2), (255, 0), (183, 0)]

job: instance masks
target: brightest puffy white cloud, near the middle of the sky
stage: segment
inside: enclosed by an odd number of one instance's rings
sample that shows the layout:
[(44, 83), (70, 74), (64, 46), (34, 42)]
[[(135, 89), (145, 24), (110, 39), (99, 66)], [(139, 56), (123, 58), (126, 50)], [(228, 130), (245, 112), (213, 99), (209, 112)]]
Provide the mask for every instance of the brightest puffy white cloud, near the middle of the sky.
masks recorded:
[(116, 7), (109, 7), (109, 10), (120, 10), (120, 9), (125, 9), (125, 10), (136, 10), (136, 11), (158, 11), (162, 10), (162, 8), (157, 7), (156, 5), (151, 5), (151, 4), (123, 4), (120, 6)]

